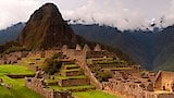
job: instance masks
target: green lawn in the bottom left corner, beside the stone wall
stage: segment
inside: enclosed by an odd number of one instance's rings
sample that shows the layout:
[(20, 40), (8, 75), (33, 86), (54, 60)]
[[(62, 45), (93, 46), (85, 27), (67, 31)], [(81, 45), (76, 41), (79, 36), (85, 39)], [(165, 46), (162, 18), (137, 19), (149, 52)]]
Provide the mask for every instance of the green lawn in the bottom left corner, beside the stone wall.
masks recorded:
[(11, 89), (0, 87), (0, 98), (41, 98), (40, 95), (24, 86), (24, 79), (12, 79), (5, 75), (1, 75), (0, 78), (12, 85)]

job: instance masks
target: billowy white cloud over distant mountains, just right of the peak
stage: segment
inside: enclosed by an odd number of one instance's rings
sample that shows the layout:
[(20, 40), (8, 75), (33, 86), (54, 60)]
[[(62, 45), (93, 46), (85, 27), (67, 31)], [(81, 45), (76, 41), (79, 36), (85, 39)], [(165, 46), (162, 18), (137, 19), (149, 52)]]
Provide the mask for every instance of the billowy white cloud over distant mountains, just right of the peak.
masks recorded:
[(74, 11), (64, 11), (65, 19), (85, 20), (87, 23), (116, 26), (120, 29), (134, 29), (147, 26), (146, 15), (140, 9), (127, 9), (122, 0), (88, 0), (86, 5)]

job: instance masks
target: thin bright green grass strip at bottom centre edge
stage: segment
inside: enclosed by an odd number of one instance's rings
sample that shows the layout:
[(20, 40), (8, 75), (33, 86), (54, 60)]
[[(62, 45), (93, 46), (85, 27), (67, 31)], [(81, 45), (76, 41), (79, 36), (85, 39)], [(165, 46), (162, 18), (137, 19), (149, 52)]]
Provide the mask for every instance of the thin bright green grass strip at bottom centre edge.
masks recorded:
[(73, 93), (75, 98), (121, 98), (119, 96), (109, 95), (101, 90), (89, 90), (89, 91), (78, 91)]

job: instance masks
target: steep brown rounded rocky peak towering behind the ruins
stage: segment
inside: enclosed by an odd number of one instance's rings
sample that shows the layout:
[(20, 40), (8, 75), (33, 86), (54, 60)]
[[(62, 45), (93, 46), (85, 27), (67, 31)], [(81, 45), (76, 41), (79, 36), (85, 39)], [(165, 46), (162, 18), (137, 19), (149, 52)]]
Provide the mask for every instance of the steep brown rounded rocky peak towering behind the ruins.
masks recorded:
[(18, 41), (29, 49), (48, 49), (63, 45), (75, 47), (78, 42), (86, 42), (74, 34), (53, 3), (46, 3), (34, 12), (18, 36)]

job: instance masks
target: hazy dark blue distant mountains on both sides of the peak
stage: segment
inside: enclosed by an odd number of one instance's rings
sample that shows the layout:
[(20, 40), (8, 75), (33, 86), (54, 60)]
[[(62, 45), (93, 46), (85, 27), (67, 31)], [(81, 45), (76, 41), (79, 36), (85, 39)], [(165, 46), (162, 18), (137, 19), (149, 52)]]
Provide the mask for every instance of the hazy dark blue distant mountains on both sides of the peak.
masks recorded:
[[(20, 24), (23, 27), (24, 24)], [(16, 28), (14, 25), (3, 29), (3, 33), (18, 35), (22, 28)], [(121, 32), (117, 28), (110, 26), (82, 25), (72, 24), (71, 27), (77, 35), (91, 41), (99, 41), (129, 54), (129, 57), (141, 64), (147, 70), (167, 70), (174, 71), (174, 26), (169, 26), (164, 29), (150, 30), (125, 30)], [(13, 40), (16, 36), (10, 36), (9, 39), (2, 40), (0, 32), (0, 42)], [(12, 38), (11, 38), (12, 37)]]

